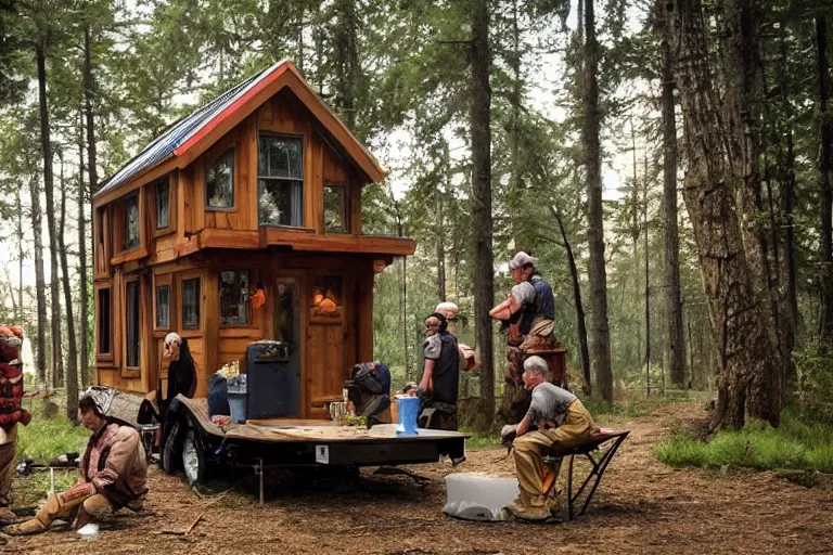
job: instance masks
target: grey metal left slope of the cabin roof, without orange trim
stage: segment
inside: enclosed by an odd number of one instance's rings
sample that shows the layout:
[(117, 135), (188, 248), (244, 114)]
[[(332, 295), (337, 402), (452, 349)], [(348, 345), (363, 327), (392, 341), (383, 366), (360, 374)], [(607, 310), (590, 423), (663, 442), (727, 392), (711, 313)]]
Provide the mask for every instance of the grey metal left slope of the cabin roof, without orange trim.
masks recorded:
[(133, 177), (175, 156), (175, 151), (198, 133), (215, 117), (231, 106), (238, 99), (245, 95), (278, 67), (286, 63), (281, 61), (268, 69), (249, 77), (240, 85), (232, 87), (212, 102), (201, 107), (190, 116), (172, 124), (164, 133), (154, 139), (142, 152), (125, 164), (118, 171), (107, 179), (101, 189), (95, 192), (93, 198), (117, 189)]

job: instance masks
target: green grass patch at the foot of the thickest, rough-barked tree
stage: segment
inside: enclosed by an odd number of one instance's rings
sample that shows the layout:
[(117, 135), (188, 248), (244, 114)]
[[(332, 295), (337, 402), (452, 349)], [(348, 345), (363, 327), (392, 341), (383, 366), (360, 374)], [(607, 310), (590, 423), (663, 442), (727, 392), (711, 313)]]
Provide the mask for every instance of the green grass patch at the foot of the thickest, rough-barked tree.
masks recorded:
[(723, 430), (708, 442), (679, 431), (653, 449), (663, 463), (675, 466), (758, 470), (798, 469), (833, 473), (833, 426), (802, 421), (791, 410), (779, 428), (752, 422), (736, 431)]

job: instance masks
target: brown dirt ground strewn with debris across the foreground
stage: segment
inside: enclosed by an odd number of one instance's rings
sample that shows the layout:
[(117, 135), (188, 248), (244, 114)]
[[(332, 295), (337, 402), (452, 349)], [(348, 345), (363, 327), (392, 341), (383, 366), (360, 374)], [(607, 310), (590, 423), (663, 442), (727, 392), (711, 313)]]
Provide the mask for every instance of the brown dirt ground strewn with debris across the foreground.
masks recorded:
[[(441, 513), (443, 476), (511, 475), (503, 450), (470, 450), (469, 461), (413, 467), (432, 482), (402, 476), (324, 480), (297, 488), (273, 477), (259, 507), (254, 479), (221, 499), (201, 495), (153, 467), (143, 514), (117, 517), (98, 540), (72, 532), (10, 538), (0, 552), (26, 554), (522, 554), (522, 553), (833, 553), (833, 486), (786, 482), (773, 473), (675, 470), (651, 454), (668, 427), (705, 416), (678, 403), (638, 418), (605, 422), (631, 430), (587, 514), (572, 522), (528, 525), (456, 520)], [(215, 485), (218, 493), (231, 485)], [(200, 516), (188, 535), (183, 531)]]

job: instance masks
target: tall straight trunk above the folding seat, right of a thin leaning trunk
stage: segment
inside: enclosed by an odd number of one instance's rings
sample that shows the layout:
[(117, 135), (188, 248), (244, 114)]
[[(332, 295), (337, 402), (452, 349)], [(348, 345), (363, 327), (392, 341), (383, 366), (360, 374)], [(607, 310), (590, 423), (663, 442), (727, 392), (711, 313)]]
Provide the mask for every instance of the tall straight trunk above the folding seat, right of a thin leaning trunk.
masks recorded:
[(602, 210), (601, 147), (599, 144), (599, 43), (595, 38), (594, 0), (585, 5), (585, 166), (588, 189), (588, 242), (592, 306), (591, 344), (595, 384), (605, 401), (613, 401), (611, 335), (607, 326), (607, 274), (604, 268), (604, 215)]

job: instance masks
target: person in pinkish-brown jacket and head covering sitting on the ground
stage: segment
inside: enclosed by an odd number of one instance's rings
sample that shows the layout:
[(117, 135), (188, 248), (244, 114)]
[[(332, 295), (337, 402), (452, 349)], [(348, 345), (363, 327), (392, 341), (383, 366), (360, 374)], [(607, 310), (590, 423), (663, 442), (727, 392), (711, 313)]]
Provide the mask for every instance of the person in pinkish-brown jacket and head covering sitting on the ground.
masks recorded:
[(40, 533), (59, 518), (72, 519), (73, 528), (80, 528), (121, 507), (142, 508), (148, 493), (148, 463), (139, 433), (127, 423), (136, 414), (118, 414), (129, 404), (119, 402), (119, 395), (106, 387), (85, 391), (78, 401), (78, 422), (92, 436), (81, 459), (80, 477), (68, 490), (51, 493), (34, 518), (7, 527), (5, 533)]

